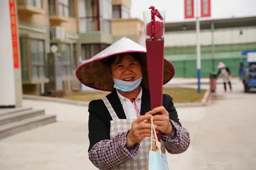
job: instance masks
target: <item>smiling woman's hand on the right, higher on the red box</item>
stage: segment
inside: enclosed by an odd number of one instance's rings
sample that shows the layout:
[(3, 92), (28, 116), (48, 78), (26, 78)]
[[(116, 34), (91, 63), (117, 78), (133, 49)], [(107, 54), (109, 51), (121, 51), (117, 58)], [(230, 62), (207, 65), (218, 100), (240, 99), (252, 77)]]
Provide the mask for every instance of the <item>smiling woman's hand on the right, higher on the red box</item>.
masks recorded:
[[(161, 113), (156, 115), (156, 113)], [(145, 113), (145, 115), (153, 115), (153, 123), (157, 125), (156, 130), (160, 130), (165, 135), (172, 133), (172, 124), (169, 121), (169, 113), (163, 106), (156, 107), (152, 111)]]

